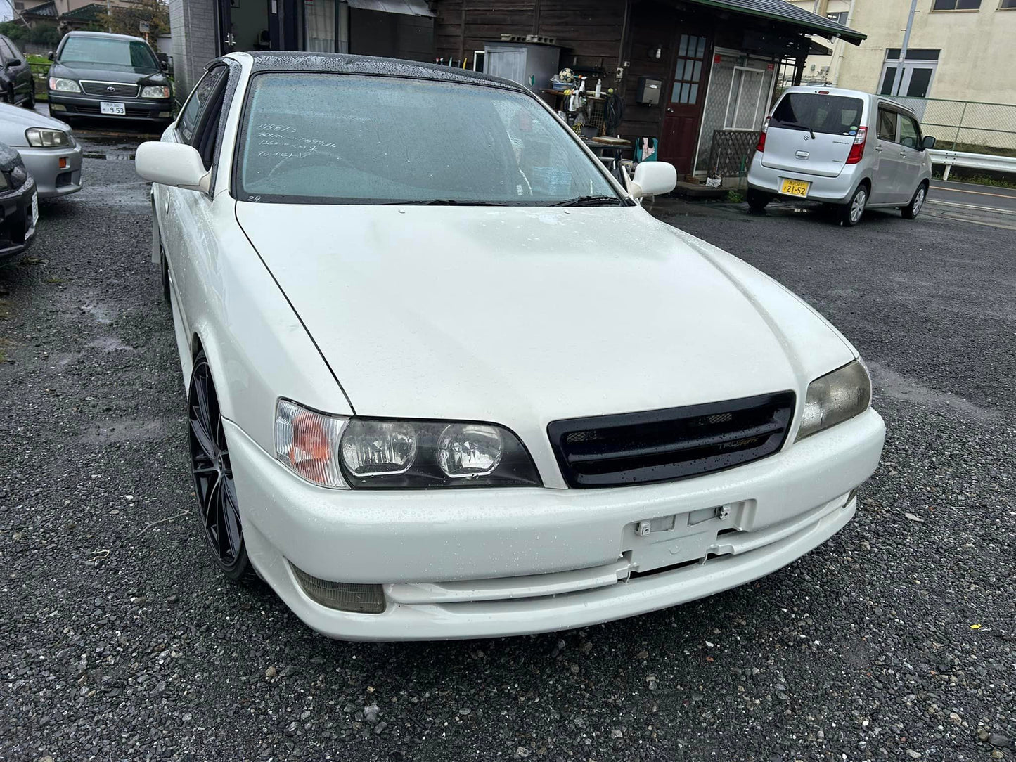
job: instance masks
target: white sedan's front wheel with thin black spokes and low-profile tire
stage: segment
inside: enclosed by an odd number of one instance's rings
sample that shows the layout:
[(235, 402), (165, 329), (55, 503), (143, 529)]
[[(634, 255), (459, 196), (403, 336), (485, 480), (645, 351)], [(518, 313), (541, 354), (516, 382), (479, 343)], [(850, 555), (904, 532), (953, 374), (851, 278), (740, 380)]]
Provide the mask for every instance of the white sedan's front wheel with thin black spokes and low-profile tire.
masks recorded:
[(229, 579), (254, 579), (256, 574), (244, 543), (223, 415), (203, 350), (194, 358), (188, 385), (187, 425), (194, 496), (212, 560)]

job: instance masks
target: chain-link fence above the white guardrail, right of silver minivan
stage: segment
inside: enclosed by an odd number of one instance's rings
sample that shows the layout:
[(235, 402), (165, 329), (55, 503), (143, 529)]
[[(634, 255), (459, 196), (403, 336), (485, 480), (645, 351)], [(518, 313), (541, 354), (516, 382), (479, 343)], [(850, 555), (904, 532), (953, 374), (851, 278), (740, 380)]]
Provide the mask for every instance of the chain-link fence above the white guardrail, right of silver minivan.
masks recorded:
[(1016, 156), (1016, 105), (945, 101), (937, 98), (895, 98), (913, 109), (936, 148)]

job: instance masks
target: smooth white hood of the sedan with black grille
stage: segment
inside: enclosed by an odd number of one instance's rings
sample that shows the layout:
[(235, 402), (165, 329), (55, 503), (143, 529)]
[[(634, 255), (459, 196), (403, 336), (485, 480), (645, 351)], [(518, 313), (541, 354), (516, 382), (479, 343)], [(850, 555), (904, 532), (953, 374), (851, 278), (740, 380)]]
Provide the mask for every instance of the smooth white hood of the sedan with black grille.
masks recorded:
[(535, 434), (800, 395), (854, 356), (777, 283), (640, 207), (238, 202), (237, 219), (361, 416)]

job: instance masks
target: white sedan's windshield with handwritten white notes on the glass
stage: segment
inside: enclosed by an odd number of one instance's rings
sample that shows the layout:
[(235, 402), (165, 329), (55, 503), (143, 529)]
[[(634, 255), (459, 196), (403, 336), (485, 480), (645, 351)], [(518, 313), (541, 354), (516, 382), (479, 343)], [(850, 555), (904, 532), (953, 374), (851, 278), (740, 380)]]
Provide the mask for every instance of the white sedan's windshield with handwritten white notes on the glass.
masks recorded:
[(397, 77), (266, 73), (249, 89), (241, 200), (621, 204), (531, 97)]

